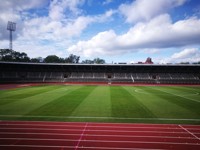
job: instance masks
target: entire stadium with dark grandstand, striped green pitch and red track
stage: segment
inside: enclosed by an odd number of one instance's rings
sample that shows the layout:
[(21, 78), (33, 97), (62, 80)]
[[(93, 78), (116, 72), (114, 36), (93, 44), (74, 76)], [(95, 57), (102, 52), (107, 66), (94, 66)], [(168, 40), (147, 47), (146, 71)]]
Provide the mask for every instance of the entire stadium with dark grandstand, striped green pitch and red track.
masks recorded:
[(0, 69), (2, 149), (200, 148), (200, 65)]

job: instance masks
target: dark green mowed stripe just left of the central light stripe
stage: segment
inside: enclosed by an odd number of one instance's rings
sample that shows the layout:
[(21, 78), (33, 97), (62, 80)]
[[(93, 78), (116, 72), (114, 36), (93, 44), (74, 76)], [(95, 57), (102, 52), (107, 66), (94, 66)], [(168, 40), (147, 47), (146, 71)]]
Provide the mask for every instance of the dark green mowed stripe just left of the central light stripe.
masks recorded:
[(63, 92), (61, 96), (26, 115), (70, 116), (94, 88), (95, 86), (69, 86), (70, 91)]

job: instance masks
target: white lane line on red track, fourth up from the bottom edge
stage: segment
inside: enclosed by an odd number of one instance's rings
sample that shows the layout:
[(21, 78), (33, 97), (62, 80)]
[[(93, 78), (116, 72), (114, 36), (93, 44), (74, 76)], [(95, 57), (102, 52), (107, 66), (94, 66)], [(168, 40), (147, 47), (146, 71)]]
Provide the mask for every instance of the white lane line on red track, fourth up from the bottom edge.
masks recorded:
[[(1, 130), (42, 130), (42, 131), (82, 131), (81, 129), (47, 129), (47, 128), (2, 128)], [(186, 134), (185, 132), (167, 132), (167, 131), (127, 131), (127, 130), (85, 130), (85, 131), (96, 131), (96, 132), (118, 132), (118, 133), (178, 133), (178, 134)], [(200, 132), (196, 133), (200, 134)]]

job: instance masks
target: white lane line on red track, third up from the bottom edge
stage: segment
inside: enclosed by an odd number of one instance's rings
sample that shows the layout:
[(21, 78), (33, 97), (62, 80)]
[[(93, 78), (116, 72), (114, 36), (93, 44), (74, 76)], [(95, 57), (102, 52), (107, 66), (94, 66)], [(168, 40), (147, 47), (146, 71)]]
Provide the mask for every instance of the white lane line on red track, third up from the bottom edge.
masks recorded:
[[(63, 133), (31, 133), (31, 132), (26, 132), (26, 133), (21, 133), (21, 132), (0, 132), (0, 134), (6, 134), (6, 135), (49, 135), (49, 136), (80, 136), (80, 134), (63, 134)], [(176, 136), (152, 136), (152, 135), (146, 135), (146, 136), (140, 136), (140, 135), (106, 135), (106, 134), (100, 134), (100, 135), (95, 135), (95, 134), (87, 134), (87, 137), (122, 137), (122, 138), (167, 138), (167, 139), (196, 139), (195, 137), (176, 137)]]

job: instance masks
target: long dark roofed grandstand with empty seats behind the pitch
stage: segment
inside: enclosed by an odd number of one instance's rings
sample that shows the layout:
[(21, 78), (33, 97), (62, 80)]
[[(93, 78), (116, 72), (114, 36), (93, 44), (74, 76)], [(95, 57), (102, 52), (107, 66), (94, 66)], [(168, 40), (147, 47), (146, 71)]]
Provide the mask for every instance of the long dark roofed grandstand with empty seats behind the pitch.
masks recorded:
[(200, 84), (200, 65), (0, 62), (0, 83)]

